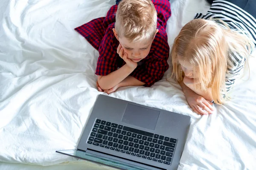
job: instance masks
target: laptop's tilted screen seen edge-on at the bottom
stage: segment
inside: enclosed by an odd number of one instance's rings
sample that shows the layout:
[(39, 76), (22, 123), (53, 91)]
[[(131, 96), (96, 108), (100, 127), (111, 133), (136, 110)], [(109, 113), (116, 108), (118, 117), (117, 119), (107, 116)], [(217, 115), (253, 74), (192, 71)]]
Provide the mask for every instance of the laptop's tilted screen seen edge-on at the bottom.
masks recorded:
[(93, 161), (100, 164), (105, 164), (110, 167), (119, 168), (122, 170), (145, 170), (145, 167), (138, 167), (133, 164), (129, 164), (126, 162), (118, 161), (115, 159), (107, 158), (107, 157), (99, 157), (99, 155), (94, 155), (92, 153), (83, 152), (81, 150), (57, 150), (57, 153), (61, 153), (68, 156), (73, 156), (75, 158), (84, 159), (87, 161)]

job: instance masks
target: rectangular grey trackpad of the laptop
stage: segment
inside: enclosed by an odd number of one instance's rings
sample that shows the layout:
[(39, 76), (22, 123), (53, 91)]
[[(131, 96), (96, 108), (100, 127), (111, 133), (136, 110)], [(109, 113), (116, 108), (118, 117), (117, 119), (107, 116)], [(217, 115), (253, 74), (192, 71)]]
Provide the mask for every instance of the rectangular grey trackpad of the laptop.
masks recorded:
[(160, 111), (128, 104), (122, 122), (154, 130)]

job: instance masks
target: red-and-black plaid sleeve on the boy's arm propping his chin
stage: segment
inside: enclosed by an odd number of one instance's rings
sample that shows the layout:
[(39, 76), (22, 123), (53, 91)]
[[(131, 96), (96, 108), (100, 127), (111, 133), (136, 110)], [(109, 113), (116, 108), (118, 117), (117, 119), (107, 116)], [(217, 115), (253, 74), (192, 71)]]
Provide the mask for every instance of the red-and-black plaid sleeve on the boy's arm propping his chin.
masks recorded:
[(105, 36), (99, 45), (99, 58), (95, 72), (96, 75), (106, 76), (111, 72), (116, 71), (118, 67), (117, 57), (119, 57), (119, 55), (115, 49), (117, 43), (113, 42), (116, 37), (114, 37), (112, 25), (110, 25), (106, 30)]

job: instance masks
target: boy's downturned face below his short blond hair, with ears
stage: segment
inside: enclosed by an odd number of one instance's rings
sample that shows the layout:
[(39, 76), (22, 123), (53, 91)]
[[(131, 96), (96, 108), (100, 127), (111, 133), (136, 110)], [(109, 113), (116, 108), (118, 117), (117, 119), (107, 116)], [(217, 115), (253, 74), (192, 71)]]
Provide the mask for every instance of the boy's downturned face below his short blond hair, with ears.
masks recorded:
[(117, 40), (119, 40), (119, 43), (124, 49), (124, 53), (127, 53), (128, 58), (131, 59), (133, 62), (139, 62), (140, 60), (148, 56), (152, 42), (154, 40), (154, 39), (151, 39), (151, 40), (145, 40), (140, 42), (131, 42), (125, 37), (120, 38), (116, 35), (116, 38)]

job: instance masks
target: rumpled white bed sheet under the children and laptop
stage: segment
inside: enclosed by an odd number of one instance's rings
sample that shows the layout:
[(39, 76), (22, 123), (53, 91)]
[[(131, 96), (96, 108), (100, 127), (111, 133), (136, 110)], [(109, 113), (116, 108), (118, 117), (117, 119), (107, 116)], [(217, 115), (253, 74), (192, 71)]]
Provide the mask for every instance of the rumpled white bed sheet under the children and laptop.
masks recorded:
[[(0, 0), (0, 169), (22, 169), (24, 164), (54, 169), (55, 164), (77, 161), (55, 150), (76, 148), (96, 97), (103, 93), (96, 89), (94, 74), (99, 53), (73, 28), (105, 16), (114, 3)], [(205, 0), (175, 0), (171, 6), (170, 46), (196, 12), (209, 9)], [(246, 74), (247, 81), (237, 81), (232, 101), (215, 105), (211, 116), (197, 115), (189, 108), (180, 85), (166, 80), (170, 70), (151, 88), (120, 88), (110, 96), (191, 116), (179, 169), (253, 170), (255, 64), (251, 58), (250, 78)], [(90, 162), (82, 164), (93, 169)], [(27, 169), (42, 169), (34, 165)]]

